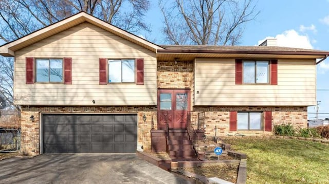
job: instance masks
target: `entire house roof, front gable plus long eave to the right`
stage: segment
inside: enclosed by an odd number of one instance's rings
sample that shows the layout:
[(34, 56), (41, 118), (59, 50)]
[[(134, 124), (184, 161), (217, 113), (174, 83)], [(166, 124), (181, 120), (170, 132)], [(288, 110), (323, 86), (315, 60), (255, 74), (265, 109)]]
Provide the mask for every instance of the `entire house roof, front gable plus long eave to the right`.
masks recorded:
[(273, 46), (207, 46), (207, 45), (163, 45), (159, 46), (139, 36), (122, 30), (107, 22), (79, 12), (57, 23), (36, 30), (20, 39), (0, 46), (0, 55), (15, 56), (15, 51), (39, 42), (66, 29), (88, 22), (108, 32), (120, 36), (137, 45), (156, 52), (158, 60), (169, 61), (175, 58), (179, 60), (193, 60), (197, 57), (204, 58), (292, 58), (292, 59), (318, 59), (325, 58), (329, 51), (300, 49)]

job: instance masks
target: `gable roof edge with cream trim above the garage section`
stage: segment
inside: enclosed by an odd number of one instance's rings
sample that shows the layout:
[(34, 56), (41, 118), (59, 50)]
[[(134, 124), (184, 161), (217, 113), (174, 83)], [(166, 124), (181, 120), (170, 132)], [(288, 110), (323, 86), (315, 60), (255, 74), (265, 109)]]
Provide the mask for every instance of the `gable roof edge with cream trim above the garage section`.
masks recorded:
[(19, 38), (17, 40), (14, 40), (12, 42), (0, 46), (0, 55), (15, 56), (16, 50), (29, 46), (33, 43), (39, 42), (43, 39), (48, 38), (49, 36), (62, 32), (66, 29), (79, 25), (83, 22), (88, 22), (90, 24), (98, 26), (104, 30), (107, 30), (108, 32), (118, 35), (123, 39), (129, 40), (151, 51), (156, 52), (158, 49), (163, 49), (162, 47), (152, 42), (149, 42), (145, 39), (142, 39), (139, 36), (136, 36), (135, 34), (122, 30), (116, 26), (113, 26), (107, 22), (98, 19), (95, 16), (89, 15), (86, 12), (82, 11), (72, 16), (69, 16), (62, 21), (59, 21), (57, 23), (36, 30), (28, 35), (23, 36), (22, 38)]

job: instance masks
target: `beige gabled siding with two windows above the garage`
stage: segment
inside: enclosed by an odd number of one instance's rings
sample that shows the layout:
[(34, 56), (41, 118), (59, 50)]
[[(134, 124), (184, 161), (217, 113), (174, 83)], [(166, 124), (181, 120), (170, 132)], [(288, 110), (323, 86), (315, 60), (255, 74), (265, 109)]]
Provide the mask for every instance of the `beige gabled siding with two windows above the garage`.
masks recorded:
[[(15, 52), (16, 104), (20, 105), (155, 105), (156, 56), (130, 41), (89, 23)], [(72, 84), (25, 84), (25, 58), (72, 58)], [(144, 85), (99, 85), (99, 58), (144, 59)], [(93, 104), (95, 100), (95, 104)]]

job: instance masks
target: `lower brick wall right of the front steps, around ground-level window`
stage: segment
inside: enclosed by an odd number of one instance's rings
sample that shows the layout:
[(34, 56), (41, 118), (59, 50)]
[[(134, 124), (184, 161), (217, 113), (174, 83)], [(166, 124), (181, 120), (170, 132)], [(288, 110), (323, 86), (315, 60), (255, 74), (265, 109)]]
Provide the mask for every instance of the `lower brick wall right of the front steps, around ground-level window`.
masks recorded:
[[(205, 112), (205, 130), (208, 137), (234, 134), (271, 135), (265, 131), (229, 131), (230, 111), (263, 112), (272, 111), (272, 130), (275, 124), (291, 123), (295, 127), (307, 127), (307, 107), (199, 107), (191, 112), (191, 121), (197, 127), (197, 114)], [(264, 121), (264, 120), (263, 120)], [(264, 122), (263, 122), (264, 123)]]

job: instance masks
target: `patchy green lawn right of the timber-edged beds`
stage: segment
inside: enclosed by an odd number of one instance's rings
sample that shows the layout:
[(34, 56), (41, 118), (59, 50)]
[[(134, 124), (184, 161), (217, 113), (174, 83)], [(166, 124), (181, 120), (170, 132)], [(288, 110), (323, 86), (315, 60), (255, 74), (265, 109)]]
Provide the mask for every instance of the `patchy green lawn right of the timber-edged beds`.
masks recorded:
[(247, 154), (247, 183), (329, 183), (329, 145), (296, 139), (230, 138)]

